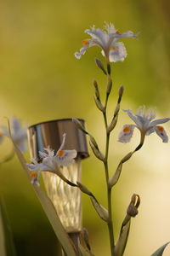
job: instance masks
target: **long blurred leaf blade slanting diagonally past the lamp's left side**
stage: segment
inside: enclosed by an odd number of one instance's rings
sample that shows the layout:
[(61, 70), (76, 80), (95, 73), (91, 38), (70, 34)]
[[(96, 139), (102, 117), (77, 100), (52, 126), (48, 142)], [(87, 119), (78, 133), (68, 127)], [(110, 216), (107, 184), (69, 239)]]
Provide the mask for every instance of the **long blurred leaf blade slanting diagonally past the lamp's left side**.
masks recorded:
[[(10, 131), (10, 126), (8, 125), (8, 129)], [(11, 137), (12, 142), (14, 143), (12, 137)], [(18, 159), (20, 160), (21, 166), (24, 168), (26, 171), (26, 176), (28, 177), (29, 181), (31, 182), (31, 177), (30, 177), (30, 171), (28, 170), (26, 166), (26, 160), (21, 154), (20, 149), (17, 148), (17, 146), (14, 143), (14, 150), (16, 155), (18, 156)], [(50, 224), (52, 225), (55, 235), (58, 237), (59, 242), (61, 243), (62, 247), (65, 250), (66, 255), (68, 256), (76, 256), (76, 252), (74, 250), (73, 244), (71, 242), (71, 239), (67, 235), (63, 225), (61, 224), (59, 220), (59, 216), (54, 208), (54, 205), (52, 201), (48, 198), (48, 195), (46, 195), (42, 189), (40, 189), (37, 185), (32, 185), (33, 189), (37, 195), (37, 198), (39, 199), (42, 208), (44, 212), (46, 213), (48, 220)]]

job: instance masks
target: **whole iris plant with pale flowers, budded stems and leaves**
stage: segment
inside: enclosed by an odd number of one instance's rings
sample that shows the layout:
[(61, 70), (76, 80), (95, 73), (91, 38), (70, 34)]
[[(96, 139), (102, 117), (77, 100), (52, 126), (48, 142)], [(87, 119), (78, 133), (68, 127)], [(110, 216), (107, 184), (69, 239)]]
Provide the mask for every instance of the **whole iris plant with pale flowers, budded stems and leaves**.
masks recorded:
[[(129, 205), (127, 206), (125, 218), (122, 220), (122, 226), (120, 228), (119, 236), (116, 238), (114, 221), (112, 216), (112, 189), (121, 177), (123, 164), (127, 162), (127, 160), (130, 160), (133, 154), (143, 147), (144, 139), (146, 136), (150, 135), (153, 132), (156, 132), (156, 134), (161, 137), (163, 143), (168, 142), (167, 133), (161, 126), (161, 124), (166, 123), (170, 120), (170, 118), (155, 119), (155, 112), (153, 110), (146, 111), (145, 107), (140, 107), (136, 114), (133, 114), (130, 109), (123, 110), (123, 112), (127, 113), (130, 119), (133, 120), (134, 124), (123, 125), (122, 131), (120, 131), (120, 134), (118, 135), (118, 141), (120, 143), (128, 143), (133, 137), (133, 131), (135, 127), (138, 128), (140, 131), (140, 140), (139, 145), (137, 145), (136, 148), (133, 149), (133, 151), (126, 154), (122, 158), (122, 160), (120, 160), (118, 166), (116, 167), (116, 171), (110, 176), (110, 137), (111, 132), (114, 131), (117, 124), (117, 120), (120, 114), (122, 96), (124, 93), (124, 87), (121, 86), (118, 90), (115, 111), (113, 113), (112, 119), (109, 120), (107, 116), (107, 111), (108, 101), (112, 90), (111, 62), (124, 61), (127, 56), (126, 48), (122, 42), (119, 42), (119, 40), (121, 38), (137, 38), (137, 34), (134, 34), (131, 31), (124, 33), (118, 32), (113, 24), (106, 23), (104, 30), (92, 26), (85, 32), (88, 33), (91, 38), (82, 41), (82, 48), (80, 49), (80, 52), (75, 53), (77, 59), (80, 59), (82, 55), (85, 54), (86, 50), (92, 46), (98, 46), (101, 49), (102, 55), (105, 57), (105, 64), (99, 59), (95, 59), (97, 67), (99, 67), (99, 69), (105, 74), (106, 77), (104, 102), (101, 101), (98, 82), (94, 80), (94, 102), (96, 104), (96, 107), (99, 109), (99, 112), (102, 113), (105, 123), (105, 152), (103, 153), (101, 151), (101, 149), (99, 148), (99, 144), (96, 142), (94, 136), (85, 129), (79, 119), (73, 118), (72, 122), (74, 123), (74, 125), (76, 125), (78, 130), (83, 132), (83, 134), (88, 135), (89, 144), (92, 148), (94, 156), (98, 160), (100, 160), (104, 166), (105, 183), (107, 190), (107, 208), (103, 207), (99, 203), (99, 200), (96, 198), (96, 196), (87, 188), (87, 186), (82, 184), (78, 179), (76, 181), (72, 181), (70, 180), (70, 177), (65, 176), (65, 172), (63, 172), (63, 169), (65, 168), (65, 166), (69, 167), (71, 165), (74, 165), (78, 155), (76, 149), (65, 149), (65, 143), (67, 139), (66, 133), (63, 133), (62, 142), (60, 143), (59, 148), (57, 148), (56, 153), (54, 151), (54, 148), (44, 148), (43, 151), (40, 151), (38, 153), (40, 155), (40, 158), (31, 158), (31, 163), (27, 163), (23, 154), (21, 153), (21, 151), (24, 151), (26, 148), (26, 128), (24, 128), (24, 130), (20, 128), (20, 122), (18, 121), (18, 119), (12, 119), (10, 125), (8, 124), (8, 129), (4, 126), (1, 127), (2, 133), (0, 135), (0, 140), (2, 141), (4, 136), (9, 137), (12, 140), (15, 153), (17, 154), (21, 165), (26, 171), (26, 176), (32, 184), (32, 187), (39, 201), (42, 204), (43, 210), (46, 212), (48, 219), (54, 228), (54, 232), (63, 248), (63, 255), (92, 256), (94, 255), (94, 253), (92, 253), (92, 249), (88, 241), (88, 231), (86, 229), (82, 229), (79, 231), (76, 240), (71, 240), (71, 236), (68, 236), (68, 232), (66, 232), (64, 225), (59, 219), (59, 211), (55, 208), (54, 201), (51, 200), (42, 189), (40, 182), (41, 173), (44, 174), (49, 172), (50, 174), (58, 177), (59, 183), (62, 183), (63, 190), (69, 191), (69, 193), (72, 190), (67, 189), (73, 187), (73, 189), (79, 189), (82, 191), (82, 193), (90, 197), (90, 200), (92, 201), (94, 209), (98, 213), (99, 218), (105, 221), (105, 224), (108, 227), (111, 256), (122, 256), (127, 246), (131, 218), (136, 217), (139, 213), (140, 197), (137, 194), (132, 195), (129, 201)], [(65, 187), (65, 183), (66, 186), (70, 187)], [(52, 185), (54, 185), (54, 183)], [(59, 193), (61, 192), (59, 191)], [(65, 212), (67, 211), (67, 208), (65, 206), (64, 210)], [(75, 218), (77, 218), (77, 216), (75, 216)], [(162, 255), (164, 249), (167, 247), (167, 244), (168, 243), (157, 249), (156, 252), (153, 253), (151, 256)]]

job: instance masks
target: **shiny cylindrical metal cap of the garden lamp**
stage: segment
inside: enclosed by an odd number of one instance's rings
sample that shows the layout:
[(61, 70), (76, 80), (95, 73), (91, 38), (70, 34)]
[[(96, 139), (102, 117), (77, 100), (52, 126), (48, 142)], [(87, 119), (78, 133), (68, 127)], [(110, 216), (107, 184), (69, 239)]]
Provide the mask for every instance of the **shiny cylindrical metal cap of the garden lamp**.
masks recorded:
[[(79, 119), (84, 125), (84, 120)], [(77, 155), (87, 158), (88, 146), (86, 135), (77, 129), (72, 119), (56, 119), (28, 127), (28, 142), (31, 157), (39, 159), (39, 151), (48, 146), (56, 153), (66, 133), (65, 147), (63, 149), (76, 149)]]

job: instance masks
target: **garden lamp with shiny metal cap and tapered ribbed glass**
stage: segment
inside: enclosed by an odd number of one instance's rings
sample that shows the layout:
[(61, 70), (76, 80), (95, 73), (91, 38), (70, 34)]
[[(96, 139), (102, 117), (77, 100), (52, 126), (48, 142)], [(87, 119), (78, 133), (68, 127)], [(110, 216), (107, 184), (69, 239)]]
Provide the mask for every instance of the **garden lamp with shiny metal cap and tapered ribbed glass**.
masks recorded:
[[(84, 121), (79, 119), (84, 125)], [(86, 137), (79, 131), (71, 119), (59, 119), (28, 128), (28, 140), (31, 157), (40, 160), (39, 151), (48, 146), (56, 153), (66, 133), (65, 148), (76, 149), (77, 159), (71, 166), (60, 167), (60, 172), (72, 183), (81, 182), (81, 160), (88, 157)], [(68, 233), (82, 230), (81, 191), (63, 182), (60, 177), (50, 172), (42, 173), (49, 198), (59, 214), (61, 223)]]

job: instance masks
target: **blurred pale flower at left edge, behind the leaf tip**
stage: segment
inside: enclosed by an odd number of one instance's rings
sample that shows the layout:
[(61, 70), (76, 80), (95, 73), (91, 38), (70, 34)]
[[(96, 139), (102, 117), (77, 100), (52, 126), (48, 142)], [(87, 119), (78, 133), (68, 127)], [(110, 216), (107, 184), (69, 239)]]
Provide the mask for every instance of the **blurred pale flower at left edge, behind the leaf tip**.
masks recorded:
[[(20, 120), (13, 117), (10, 119), (11, 126), (11, 136), (14, 140), (14, 143), (20, 148), (20, 151), (25, 152), (27, 150), (27, 126), (22, 127), (20, 125)], [(0, 126), (0, 143), (3, 142), (4, 137), (9, 137), (8, 127), (1, 125)]]

